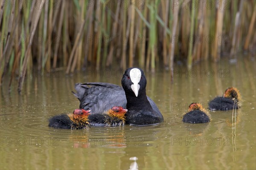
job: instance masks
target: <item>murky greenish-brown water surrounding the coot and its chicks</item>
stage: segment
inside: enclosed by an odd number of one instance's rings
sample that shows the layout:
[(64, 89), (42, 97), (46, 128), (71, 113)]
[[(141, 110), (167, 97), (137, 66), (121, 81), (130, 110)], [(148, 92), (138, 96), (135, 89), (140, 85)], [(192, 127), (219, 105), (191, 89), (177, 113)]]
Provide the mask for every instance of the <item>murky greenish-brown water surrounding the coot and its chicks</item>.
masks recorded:
[[(17, 93), (17, 80), (8, 91), (9, 76), (1, 87), (0, 169), (126, 169), (137, 157), (139, 170), (256, 169), (256, 62), (250, 56), (235, 63), (201, 62), (187, 70), (159, 67), (145, 71), (147, 95), (163, 113), (155, 126), (91, 127), (61, 130), (48, 127), (50, 116), (72, 112), (79, 101), (71, 91), (76, 82), (121, 85), (122, 70), (87, 69), (72, 76), (61, 72), (26, 77)], [(212, 122), (181, 121), (191, 102), (204, 107), (228, 87), (238, 88), (242, 105), (232, 123), (232, 111), (210, 112)], [(136, 166), (135, 166), (136, 167)], [(132, 168), (132, 167), (131, 167)]]

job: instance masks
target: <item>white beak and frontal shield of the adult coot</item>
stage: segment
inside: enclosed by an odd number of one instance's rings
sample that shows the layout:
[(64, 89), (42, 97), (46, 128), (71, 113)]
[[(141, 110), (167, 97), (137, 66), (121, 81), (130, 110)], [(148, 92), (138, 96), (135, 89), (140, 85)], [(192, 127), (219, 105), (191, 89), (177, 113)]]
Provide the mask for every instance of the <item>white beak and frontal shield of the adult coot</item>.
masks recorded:
[(131, 77), (131, 82), (133, 82), (134, 84), (131, 85), (131, 90), (134, 92), (135, 96), (137, 97), (139, 94), (139, 90), (140, 90), (140, 78), (141, 78), (141, 72), (138, 68), (133, 68), (130, 71), (130, 77)]

